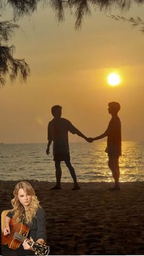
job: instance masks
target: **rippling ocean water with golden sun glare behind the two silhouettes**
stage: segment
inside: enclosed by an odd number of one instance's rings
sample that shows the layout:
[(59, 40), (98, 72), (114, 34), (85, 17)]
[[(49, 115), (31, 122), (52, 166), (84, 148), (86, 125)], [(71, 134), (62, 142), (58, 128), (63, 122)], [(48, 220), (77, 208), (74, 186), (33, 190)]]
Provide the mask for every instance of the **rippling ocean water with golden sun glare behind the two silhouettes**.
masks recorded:
[[(70, 143), (71, 164), (79, 182), (112, 181), (106, 141)], [(46, 144), (0, 144), (1, 180), (56, 181), (54, 161)], [(123, 141), (120, 181), (144, 181), (144, 142)], [(62, 182), (72, 182), (62, 162)]]

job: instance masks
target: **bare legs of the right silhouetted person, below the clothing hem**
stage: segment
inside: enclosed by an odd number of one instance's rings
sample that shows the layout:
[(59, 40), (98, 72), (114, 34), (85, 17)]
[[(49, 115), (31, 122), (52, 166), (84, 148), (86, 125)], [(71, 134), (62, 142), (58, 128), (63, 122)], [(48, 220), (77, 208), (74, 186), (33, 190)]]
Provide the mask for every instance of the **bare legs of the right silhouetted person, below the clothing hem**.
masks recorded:
[(112, 177), (115, 181), (115, 186), (113, 187), (113, 189), (120, 189), (120, 185), (119, 185), (120, 168), (118, 165), (118, 158), (113, 158), (109, 156), (108, 166), (112, 171)]

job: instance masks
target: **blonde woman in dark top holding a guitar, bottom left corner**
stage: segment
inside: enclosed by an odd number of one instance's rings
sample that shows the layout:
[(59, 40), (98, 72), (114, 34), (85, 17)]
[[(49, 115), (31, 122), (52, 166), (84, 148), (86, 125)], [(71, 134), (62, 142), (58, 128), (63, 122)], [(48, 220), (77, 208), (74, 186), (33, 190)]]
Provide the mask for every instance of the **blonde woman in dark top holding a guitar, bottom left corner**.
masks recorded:
[[(16, 224), (23, 222), (29, 227), (27, 238), (31, 241), (45, 244), (46, 242), (46, 217), (41, 208), (35, 191), (26, 181), (16, 184), (13, 191), (14, 198), (11, 200), (13, 209), (5, 218), (4, 236), (10, 234), (10, 220), (13, 218)], [(34, 250), (24, 240), (18, 249), (10, 249), (7, 245), (2, 246), (2, 256), (26, 256), (35, 255)]]

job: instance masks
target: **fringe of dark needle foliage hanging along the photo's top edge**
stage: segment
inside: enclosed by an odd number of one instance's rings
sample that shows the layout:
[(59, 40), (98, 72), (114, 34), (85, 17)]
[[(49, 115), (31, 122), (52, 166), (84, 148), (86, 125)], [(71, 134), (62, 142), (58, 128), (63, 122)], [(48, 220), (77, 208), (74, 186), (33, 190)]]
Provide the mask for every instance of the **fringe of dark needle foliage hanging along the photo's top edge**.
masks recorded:
[(31, 15), (37, 10), (38, 4), (43, 7), (52, 7), (58, 21), (65, 19), (65, 11), (68, 10), (71, 15), (75, 16), (75, 28), (79, 29), (82, 26), (84, 16), (90, 16), (93, 8), (100, 11), (116, 8), (129, 10), (132, 4), (141, 5), (144, 0), (7, 0), (6, 2), (13, 9), (14, 19)]

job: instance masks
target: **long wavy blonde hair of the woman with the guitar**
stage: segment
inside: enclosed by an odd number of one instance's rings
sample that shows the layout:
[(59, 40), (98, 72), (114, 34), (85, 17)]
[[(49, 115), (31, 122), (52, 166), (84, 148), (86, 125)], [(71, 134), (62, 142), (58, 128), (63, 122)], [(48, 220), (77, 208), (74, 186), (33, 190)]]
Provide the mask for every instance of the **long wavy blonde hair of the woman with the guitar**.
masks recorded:
[[(21, 188), (24, 190), (24, 192), (27, 192), (27, 194), (32, 196), (32, 200), (26, 211), (24, 210), (23, 205), (18, 200), (18, 191)], [(35, 191), (32, 186), (27, 181), (20, 181), (16, 184), (13, 195), (15, 197), (11, 200), (11, 203), (13, 206), (12, 212), (14, 213), (13, 219), (15, 220), (15, 222), (19, 223), (23, 218), (26, 223), (32, 222), (32, 219), (34, 218), (37, 209), (40, 208), (39, 201), (37, 199), (37, 196), (35, 196)]]

